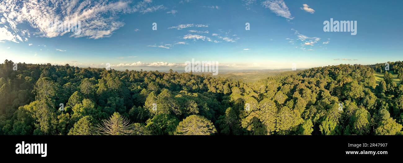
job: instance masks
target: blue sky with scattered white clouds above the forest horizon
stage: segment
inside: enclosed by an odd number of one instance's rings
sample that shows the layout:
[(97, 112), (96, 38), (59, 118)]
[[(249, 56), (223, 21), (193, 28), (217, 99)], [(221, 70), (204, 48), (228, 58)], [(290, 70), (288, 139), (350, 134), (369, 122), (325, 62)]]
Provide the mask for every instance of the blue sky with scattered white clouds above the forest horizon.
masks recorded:
[[(58, 0), (0, 2), (0, 60), (117, 70), (311, 68), (401, 60), (401, 1)], [(81, 35), (48, 31), (81, 21)], [(357, 34), (324, 21), (357, 21)], [(157, 23), (157, 30), (152, 30)], [(250, 30), (245, 30), (245, 23)]]

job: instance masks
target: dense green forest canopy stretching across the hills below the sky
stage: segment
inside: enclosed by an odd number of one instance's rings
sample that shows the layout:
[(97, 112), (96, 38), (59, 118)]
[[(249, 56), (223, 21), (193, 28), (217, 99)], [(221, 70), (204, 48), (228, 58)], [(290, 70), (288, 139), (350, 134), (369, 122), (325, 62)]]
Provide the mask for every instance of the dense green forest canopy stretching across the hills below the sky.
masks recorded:
[[(400, 135), (403, 63), (209, 75), (0, 64), (1, 135)], [(376, 84), (374, 74), (384, 73)], [(247, 106), (247, 107), (245, 107)]]

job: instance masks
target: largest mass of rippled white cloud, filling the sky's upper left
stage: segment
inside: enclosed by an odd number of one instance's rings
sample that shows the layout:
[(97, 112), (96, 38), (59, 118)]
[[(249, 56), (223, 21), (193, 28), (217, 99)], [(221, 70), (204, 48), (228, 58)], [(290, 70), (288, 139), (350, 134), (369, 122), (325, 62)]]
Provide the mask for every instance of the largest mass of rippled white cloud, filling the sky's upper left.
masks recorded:
[[(132, 3), (126, 0), (110, 2), (108, 0), (25, 0), (0, 2), (0, 21), (7, 23), (9, 29), (0, 29), (0, 40), (17, 42), (21, 40), (23, 30), (17, 25), (27, 23), (37, 31), (41, 37), (57, 37), (69, 33), (70, 37), (87, 37), (99, 39), (110, 37), (112, 33), (124, 25), (119, 19), (122, 14), (139, 12), (147, 13), (164, 9), (163, 5), (153, 5), (151, 0)], [(55, 32), (50, 23), (57, 21), (80, 21), (81, 35), (73, 32)], [(11, 32), (12, 33), (11, 33)], [(29, 35), (28, 35), (29, 37)]]

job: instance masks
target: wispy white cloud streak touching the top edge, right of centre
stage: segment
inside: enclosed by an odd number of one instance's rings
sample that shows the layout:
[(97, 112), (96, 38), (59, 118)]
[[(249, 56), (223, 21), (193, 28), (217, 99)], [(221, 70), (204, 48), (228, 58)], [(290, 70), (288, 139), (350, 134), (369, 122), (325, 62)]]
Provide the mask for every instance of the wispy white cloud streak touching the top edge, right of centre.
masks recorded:
[(262, 2), (262, 5), (277, 14), (277, 16), (287, 18), (288, 20), (294, 19), (284, 0), (265, 0)]

